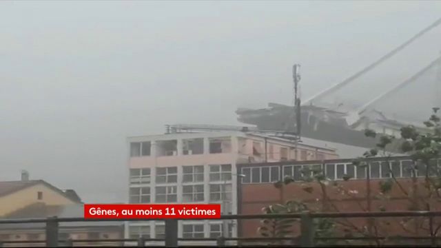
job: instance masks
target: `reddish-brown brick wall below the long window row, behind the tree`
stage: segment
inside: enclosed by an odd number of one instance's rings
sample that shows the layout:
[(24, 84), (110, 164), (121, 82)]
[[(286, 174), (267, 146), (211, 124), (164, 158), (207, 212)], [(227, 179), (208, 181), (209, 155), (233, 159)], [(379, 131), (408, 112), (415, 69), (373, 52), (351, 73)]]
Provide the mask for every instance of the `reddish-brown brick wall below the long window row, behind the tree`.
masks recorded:
[[(335, 162), (332, 162), (335, 163)], [(257, 165), (255, 165), (257, 166)], [(269, 163), (260, 166), (271, 166)], [(276, 165), (274, 166), (281, 166)], [(371, 191), (371, 211), (407, 211), (411, 206), (411, 200), (402, 192), (398, 185), (394, 184), (391, 192), (387, 194), (390, 198), (378, 199), (380, 194), (380, 182), (387, 180), (387, 178), (376, 178), (369, 180), (369, 188)], [(418, 200), (419, 209), (425, 210), (424, 202), (429, 202), (431, 206), (431, 210), (440, 211), (441, 204), (438, 203), (438, 199), (440, 198), (427, 198), (427, 190), (422, 187), (422, 183), (424, 183), (424, 177), (418, 178), (420, 186), (417, 192), (417, 195), (420, 196), (420, 200)], [(346, 190), (356, 191), (357, 194), (340, 194), (340, 192), (336, 189), (336, 187), (332, 185), (328, 185), (326, 187), (326, 192), (329, 198), (329, 210), (328, 211), (342, 211), (342, 212), (351, 212), (351, 211), (367, 211), (368, 209), (368, 200), (367, 200), (367, 179), (350, 179), (350, 180), (337, 180), (338, 185), (341, 185)], [(412, 181), (411, 178), (398, 178), (398, 182), (402, 187), (410, 192)], [(274, 205), (277, 203), (285, 203), (287, 200), (301, 200), (303, 202), (307, 202), (309, 206), (312, 208), (321, 209), (322, 207), (322, 190), (320, 189), (320, 185), (318, 183), (291, 183), (289, 185), (285, 185), (282, 188), (274, 187), (274, 183), (243, 183), (238, 185), (239, 187), (239, 206), (238, 213), (239, 214), (263, 214), (263, 207), (267, 207), (268, 205)], [(306, 192), (304, 190), (305, 187), (311, 187), (312, 192)], [(318, 201), (319, 200), (319, 201)], [(332, 207), (332, 205), (335, 206)], [(381, 209), (381, 210), (380, 210)], [(381, 218), (378, 220), (378, 231), (381, 234), (391, 235), (408, 235), (415, 236), (415, 234), (411, 234), (409, 231), (404, 231), (402, 225), (400, 225), (400, 221), (403, 218)], [(353, 219), (342, 219), (340, 222), (346, 223), (345, 225), (352, 225), (353, 227), (362, 228), (366, 225), (365, 218), (353, 218)], [(437, 220), (438, 224), (441, 223), (440, 220)], [(260, 220), (241, 220), (239, 221), (239, 236), (242, 237), (258, 237), (257, 229), (260, 226)], [(427, 226), (427, 223), (424, 223), (424, 226)], [(342, 231), (346, 229), (342, 225), (338, 227)], [(296, 228), (297, 229), (297, 228)], [(407, 229), (411, 229), (413, 231), (415, 228), (413, 226), (407, 227)], [(419, 229), (419, 235), (429, 234), (428, 230)]]

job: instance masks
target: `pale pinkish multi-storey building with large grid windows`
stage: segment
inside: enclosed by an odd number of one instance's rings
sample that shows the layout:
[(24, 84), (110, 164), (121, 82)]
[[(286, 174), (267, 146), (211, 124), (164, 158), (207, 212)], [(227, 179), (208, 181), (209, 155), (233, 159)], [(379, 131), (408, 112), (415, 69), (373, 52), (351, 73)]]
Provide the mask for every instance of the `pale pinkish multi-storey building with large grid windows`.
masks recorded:
[[(335, 149), (245, 132), (128, 138), (129, 203), (214, 203), (237, 213), (236, 164), (337, 158)], [(127, 238), (163, 238), (163, 222), (127, 223)], [(237, 225), (228, 223), (229, 236)], [(217, 238), (220, 220), (180, 221), (179, 237)]]

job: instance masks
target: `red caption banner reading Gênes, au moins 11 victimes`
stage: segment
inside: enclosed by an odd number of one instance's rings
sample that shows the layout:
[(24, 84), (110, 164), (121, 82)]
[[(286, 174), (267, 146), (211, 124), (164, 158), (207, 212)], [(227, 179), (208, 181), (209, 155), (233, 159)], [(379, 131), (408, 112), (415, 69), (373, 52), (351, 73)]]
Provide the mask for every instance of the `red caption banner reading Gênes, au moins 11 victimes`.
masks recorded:
[(220, 218), (218, 204), (85, 204), (84, 218)]

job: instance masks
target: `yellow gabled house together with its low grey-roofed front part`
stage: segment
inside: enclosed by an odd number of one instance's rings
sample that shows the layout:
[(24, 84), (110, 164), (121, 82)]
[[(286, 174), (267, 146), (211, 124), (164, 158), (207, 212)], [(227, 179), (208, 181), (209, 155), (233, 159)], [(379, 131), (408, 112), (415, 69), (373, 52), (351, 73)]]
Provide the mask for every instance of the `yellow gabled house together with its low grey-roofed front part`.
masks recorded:
[[(59, 189), (45, 180), (30, 180), (28, 172), (21, 180), (0, 182), (0, 218), (83, 217), (81, 198), (72, 189)], [(84, 222), (59, 223), (60, 240), (123, 238), (123, 223)], [(45, 223), (0, 225), (3, 247), (44, 247)], [(75, 245), (120, 246), (121, 242), (76, 242)]]

